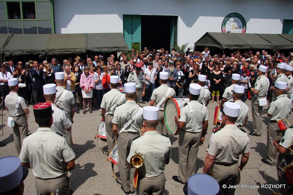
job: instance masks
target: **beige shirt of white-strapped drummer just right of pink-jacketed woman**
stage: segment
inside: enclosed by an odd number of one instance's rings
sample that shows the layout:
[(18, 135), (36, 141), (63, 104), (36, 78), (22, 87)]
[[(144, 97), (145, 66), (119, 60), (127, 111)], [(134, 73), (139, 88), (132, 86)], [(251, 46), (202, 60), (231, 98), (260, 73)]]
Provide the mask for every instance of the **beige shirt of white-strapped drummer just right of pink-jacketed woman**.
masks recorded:
[[(124, 97), (124, 99), (118, 102), (122, 96)], [(114, 114), (114, 111), (116, 108), (113, 110), (110, 110), (110, 108), (112, 108), (112, 106), (115, 105), (116, 103), (120, 105), (125, 102), (126, 102), (126, 97), (124, 94), (119, 92), (118, 89), (111, 89), (110, 92), (105, 93), (105, 95), (103, 96), (101, 108), (105, 108), (106, 112), (109, 112), (109, 114)]]

